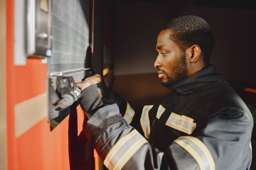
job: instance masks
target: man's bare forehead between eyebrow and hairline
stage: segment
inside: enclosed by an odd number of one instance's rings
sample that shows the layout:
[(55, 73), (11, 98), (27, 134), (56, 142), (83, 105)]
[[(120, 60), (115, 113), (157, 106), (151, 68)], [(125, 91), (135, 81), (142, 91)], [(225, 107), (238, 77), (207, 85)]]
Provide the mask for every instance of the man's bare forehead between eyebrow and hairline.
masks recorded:
[(162, 30), (157, 37), (157, 49), (160, 49), (163, 46), (173, 46), (174, 42), (170, 40), (171, 31)]

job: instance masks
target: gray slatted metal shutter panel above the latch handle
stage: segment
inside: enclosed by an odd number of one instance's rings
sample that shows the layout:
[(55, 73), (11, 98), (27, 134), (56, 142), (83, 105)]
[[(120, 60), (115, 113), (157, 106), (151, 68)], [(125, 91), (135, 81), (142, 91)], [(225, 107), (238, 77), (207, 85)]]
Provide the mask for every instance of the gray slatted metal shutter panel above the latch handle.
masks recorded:
[(90, 0), (52, 0), (53, 55), (48, 62), (49, 74), (85, 68), (89, 26)]

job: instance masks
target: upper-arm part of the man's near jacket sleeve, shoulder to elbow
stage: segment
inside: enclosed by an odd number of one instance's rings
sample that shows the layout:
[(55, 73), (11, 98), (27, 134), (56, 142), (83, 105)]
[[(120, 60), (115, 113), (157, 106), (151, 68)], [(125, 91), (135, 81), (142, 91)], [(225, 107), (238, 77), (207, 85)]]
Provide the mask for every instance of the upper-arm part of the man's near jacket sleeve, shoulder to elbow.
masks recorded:
[[(249, 170), (253, 127), (250, 117), (250, 113), (239, 108), (222, 108), (203, 120), (205, 127), (199, 126), (195, 133), (179, 137), (172, 144), (179, 145), (186, 151), (186, 156), (195, 160), (196, 169)], [(189, 164), (182, 159), (180, 152), (172, 148), (169, 151), (177, 169), (188, 169)]]

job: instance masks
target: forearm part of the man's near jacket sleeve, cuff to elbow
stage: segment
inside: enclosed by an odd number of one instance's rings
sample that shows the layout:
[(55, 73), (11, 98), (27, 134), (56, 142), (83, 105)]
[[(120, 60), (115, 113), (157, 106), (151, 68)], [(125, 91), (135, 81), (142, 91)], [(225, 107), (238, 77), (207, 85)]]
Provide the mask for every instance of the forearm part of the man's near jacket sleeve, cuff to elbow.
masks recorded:
[(83, 132), (110, 170), (170, 169), (164, 152), (151, 148), (148, 141), (126, 123), (117, 104), (97, 110), (83, 127)]

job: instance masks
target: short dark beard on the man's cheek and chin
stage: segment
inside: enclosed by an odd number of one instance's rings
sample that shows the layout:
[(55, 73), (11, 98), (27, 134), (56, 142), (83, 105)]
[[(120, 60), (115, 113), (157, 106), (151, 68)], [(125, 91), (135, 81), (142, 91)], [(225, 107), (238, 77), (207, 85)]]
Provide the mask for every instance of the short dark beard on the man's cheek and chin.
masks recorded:
[(180, 82), (181, 80), (185, 79), (188, 73), (188, 69), (186, 67), (186, 54), (182, 53), (182, 57), (180, 61), (173, 68), (173, 73), (171, 75), (167, 75), (167, 81), (162, 82), (162, 85), (165, 87), (171, 87), (173, 84)]

